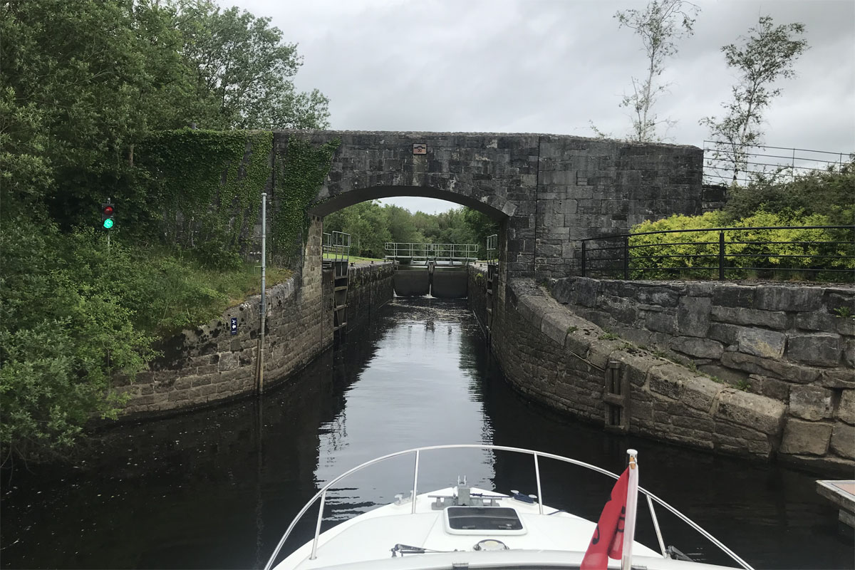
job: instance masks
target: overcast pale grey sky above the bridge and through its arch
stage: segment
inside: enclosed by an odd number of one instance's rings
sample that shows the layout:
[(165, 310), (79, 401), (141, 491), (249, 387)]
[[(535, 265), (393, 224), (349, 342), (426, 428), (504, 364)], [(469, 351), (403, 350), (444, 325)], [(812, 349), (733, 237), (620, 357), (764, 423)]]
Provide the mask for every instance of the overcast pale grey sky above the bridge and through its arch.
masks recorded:
[[(640, 38), (618, 28), (620, 9), (644, 2), (595, 0), (220, 0), (272, 19), (304, 65), (298, 89), (330, 99), (333, 129), (549, 132), (593, 136), (589, 121), (620, 138), (619, 103), (644, 73)], [(765, 143), (855, 150), (855, 2), (698, 2), (694, 35), (665, 62), (660, 117), (676, 120), (666, 142), (703, 147), (698, 120), (721, 115), (735, 74), (721, 46), (771, 15), (801, 22), (810, 49), (796, 79), (765, 115)], [(396, 198), (412, 211), (456, 204)]]

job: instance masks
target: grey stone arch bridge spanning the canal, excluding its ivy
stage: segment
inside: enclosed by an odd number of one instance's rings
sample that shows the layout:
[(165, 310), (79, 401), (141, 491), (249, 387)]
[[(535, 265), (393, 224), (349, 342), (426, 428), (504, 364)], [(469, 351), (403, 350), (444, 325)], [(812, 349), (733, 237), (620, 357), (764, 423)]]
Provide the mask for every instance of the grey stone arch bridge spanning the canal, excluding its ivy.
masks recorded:
[(699, 214), (703, 151), (549, 134), (275, 132), (288, 140), (339, 138), (310, 214), (393, 196), (463, 204), (501, 222), (503, 273), (575, 273), (578, 240), (626, 232), (642, 220)]

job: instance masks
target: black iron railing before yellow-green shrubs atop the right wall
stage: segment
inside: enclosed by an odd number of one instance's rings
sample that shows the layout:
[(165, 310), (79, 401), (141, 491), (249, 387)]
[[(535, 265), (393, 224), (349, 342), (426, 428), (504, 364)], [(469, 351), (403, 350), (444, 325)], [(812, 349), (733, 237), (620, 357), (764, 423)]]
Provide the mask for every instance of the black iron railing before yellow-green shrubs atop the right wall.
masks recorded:
[(581, 240), (583, 277), (855, 281), (855, 226), (715, 227)]

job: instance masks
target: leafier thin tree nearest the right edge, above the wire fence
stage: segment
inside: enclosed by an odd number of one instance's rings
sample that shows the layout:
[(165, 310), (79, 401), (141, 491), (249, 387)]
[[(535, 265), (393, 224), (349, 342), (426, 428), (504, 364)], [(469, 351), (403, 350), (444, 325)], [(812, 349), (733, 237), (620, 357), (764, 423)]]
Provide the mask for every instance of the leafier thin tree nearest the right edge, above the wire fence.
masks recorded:
[(808, 48), (807, 40), (799, 38), (804, 32), (804, 24), (774, 26), (771, 16), (761, 16), (740, 45), (722, 47), (728, 68), (740, 73), (739, 82), (731, 89), (733, 100), (722, 103), (727, 114), (705, 117), (700, 124), (710, 128), (716, 141), (712, 158), (733, 170), (734, 185), (739, 173), (747, 171), (749, 148), (763, 142), (764, 111), (781, 95), (781, 88), (772, 85), (796, 75), (793, 63)]

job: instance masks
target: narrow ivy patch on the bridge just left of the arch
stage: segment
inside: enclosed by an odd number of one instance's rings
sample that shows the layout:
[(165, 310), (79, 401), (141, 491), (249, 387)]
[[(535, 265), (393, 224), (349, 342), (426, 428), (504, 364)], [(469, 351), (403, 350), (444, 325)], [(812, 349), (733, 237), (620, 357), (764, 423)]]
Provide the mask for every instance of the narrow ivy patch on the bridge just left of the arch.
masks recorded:
[[(283, 156), (274, 157), (274, 191), (278, 197), (271, 216), (274, 256), (289, 260), (304, 243), (309, 229), (306, 209), (327, 178), (338, 138), (314, 146), (297, 137), (288, 138)], [(301, 239), (302, 238), (302, 239)]]

